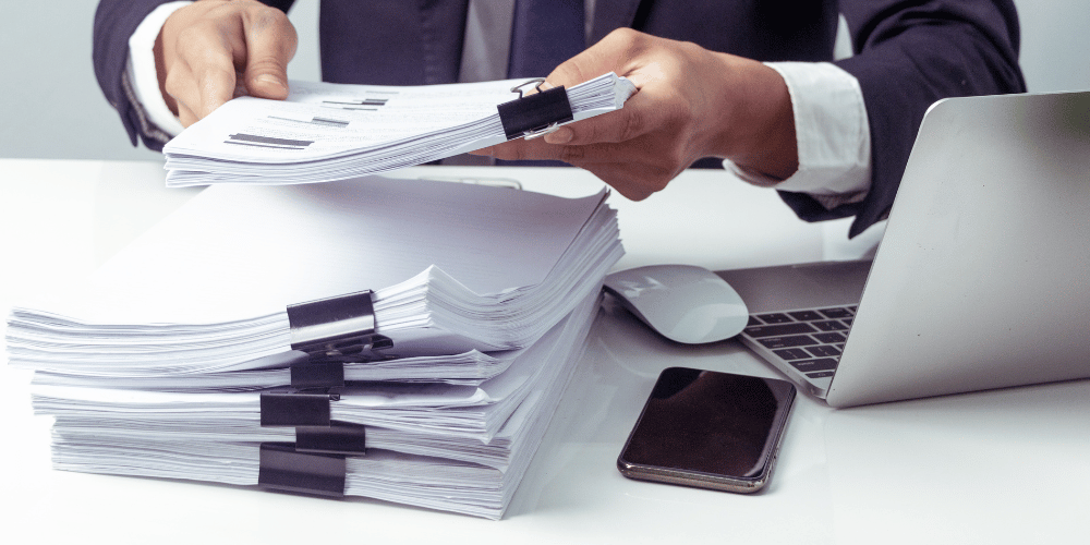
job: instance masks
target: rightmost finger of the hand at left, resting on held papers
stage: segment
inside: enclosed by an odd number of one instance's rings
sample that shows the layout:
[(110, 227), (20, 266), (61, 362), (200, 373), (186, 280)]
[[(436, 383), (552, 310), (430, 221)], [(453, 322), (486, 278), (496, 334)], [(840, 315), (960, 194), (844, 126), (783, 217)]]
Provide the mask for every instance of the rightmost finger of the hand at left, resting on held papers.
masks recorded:
[(288, 62), (299, 38), (282, 11), (255, 8), (242, 13), (245, 35), (245, 85), (251, 96), (288, 98)]

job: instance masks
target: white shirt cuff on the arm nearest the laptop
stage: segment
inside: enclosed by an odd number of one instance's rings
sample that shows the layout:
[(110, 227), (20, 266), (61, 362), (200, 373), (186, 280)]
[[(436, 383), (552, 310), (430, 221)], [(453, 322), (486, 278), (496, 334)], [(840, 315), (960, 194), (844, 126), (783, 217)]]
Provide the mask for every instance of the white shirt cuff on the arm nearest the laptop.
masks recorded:
[(751, 183), (807, 193), (825, 208), (857, 203), (871, 186), (871, 133), (855, 76), (828, 62), (768, 62), (787, 82), (795, 110), (799, 170), (770, 180), (724, 161)]

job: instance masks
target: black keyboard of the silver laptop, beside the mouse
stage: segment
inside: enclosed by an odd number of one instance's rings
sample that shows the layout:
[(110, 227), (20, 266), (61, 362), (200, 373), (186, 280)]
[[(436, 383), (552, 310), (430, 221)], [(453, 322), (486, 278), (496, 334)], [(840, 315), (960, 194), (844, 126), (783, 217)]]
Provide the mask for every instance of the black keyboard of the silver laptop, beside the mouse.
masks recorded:
[(856, 308), (852, 305), (751, 314), (741, 334), (742, 341), (811, 379), (831, 377), (840, 361)]

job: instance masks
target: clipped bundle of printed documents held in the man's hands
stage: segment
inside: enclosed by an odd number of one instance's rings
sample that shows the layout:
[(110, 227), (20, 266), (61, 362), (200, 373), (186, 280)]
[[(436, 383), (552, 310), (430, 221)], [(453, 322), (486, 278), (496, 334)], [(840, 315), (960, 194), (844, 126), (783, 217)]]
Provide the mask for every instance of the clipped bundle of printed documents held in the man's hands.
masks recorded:
[[(284, 101), (237, 98), (170, 141), (162, 150), (167, 185), (344, 180), (500, 144), (523, 134), (509, 131), (497, 106), (519, 99), (521, 89), (512, 88), (525, 82), (412, 87), (292, 82)], [(620, 109), (634, 92), (628, 80), (602, 75), (566, 89), (567, 114), (545, 116), (543, 123)], [(554, 112), (545, 106), (533, 105), (533, 113)]]

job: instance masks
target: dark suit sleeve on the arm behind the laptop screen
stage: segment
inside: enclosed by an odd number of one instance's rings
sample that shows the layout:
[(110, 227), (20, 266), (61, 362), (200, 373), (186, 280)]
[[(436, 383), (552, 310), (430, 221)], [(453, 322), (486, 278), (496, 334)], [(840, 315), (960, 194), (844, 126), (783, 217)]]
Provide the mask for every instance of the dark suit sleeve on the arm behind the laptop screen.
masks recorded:
[(1024, 93), (1012, 0), (844, 0), (855, 56), (836, 64), (859, 81), (871, 132), (871, 189), (861, 203), (825, 209), (780, 192), (808, 221), (855, 216), (855, 237), (893, 206), (923, 113), (936, 100)]

